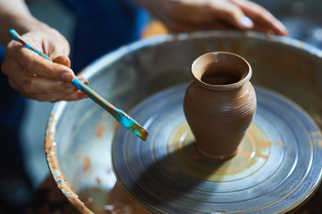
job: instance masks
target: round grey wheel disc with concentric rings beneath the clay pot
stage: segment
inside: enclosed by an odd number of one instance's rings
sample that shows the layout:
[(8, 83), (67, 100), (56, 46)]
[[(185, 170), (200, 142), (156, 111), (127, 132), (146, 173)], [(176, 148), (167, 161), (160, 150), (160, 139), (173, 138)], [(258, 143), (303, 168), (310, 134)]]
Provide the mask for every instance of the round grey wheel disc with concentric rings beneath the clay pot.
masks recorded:
[(255, 87), (258, 107), (238, 152), (212, 161), (194, 148), (186, 123), (186, 85), (172, 87), (130, 112), (146, 142), (119, 128), (112, 161), (120, 184), (146, 209), (161, 213), (277, 213), (314, 193), (321, 177), (321, 133), (294, 103)]

